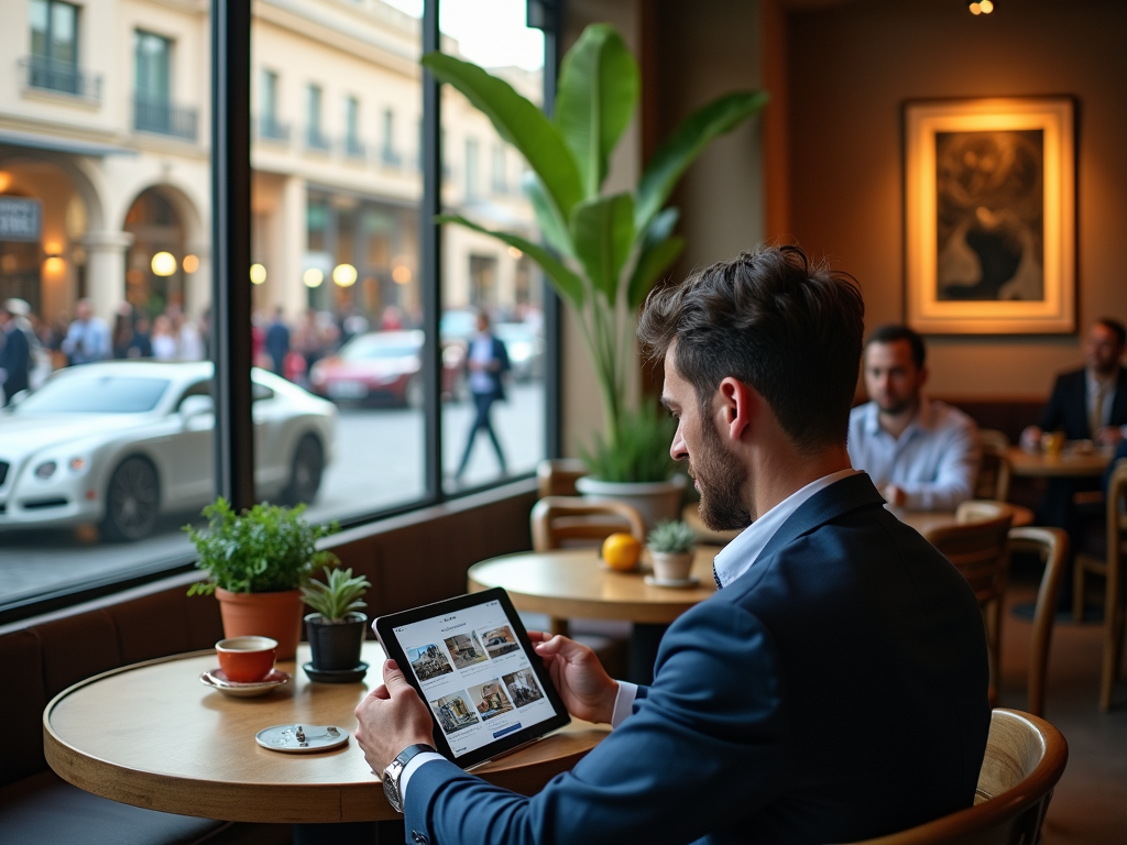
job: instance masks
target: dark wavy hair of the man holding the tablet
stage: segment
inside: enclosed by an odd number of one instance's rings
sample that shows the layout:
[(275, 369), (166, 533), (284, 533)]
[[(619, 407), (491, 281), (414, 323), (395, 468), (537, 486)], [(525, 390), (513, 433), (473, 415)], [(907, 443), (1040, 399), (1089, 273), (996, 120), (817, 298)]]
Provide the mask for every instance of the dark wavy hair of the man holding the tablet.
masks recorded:
[(861, 365), (864, 301), (857, 279), (798, 247), (718, 261), (646, 300), (638, 337), (674, 364), (702, 410), (728, 376), (752, 385), (796, 448), (844, 444)]

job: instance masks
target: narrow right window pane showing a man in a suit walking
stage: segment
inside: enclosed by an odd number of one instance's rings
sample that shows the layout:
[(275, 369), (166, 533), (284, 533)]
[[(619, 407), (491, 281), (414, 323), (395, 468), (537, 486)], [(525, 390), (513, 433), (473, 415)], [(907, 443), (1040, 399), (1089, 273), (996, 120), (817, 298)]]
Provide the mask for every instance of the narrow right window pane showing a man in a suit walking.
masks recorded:
[[(525, 26), (525, 0), (443, 0), (440, 8), (443, 35), (453, 42), (444, 42), (445, 50), (540, 104), (543, 34)], [(489, 229), (539, 241), (530, 203), (508, 189), (520, 184), (520, 154), (449, 86), (442, 109), (451, 169), (444, 205)], [(441, 333), (453, 400), (443, 409), (443, 466), (450, 490), (530, 472), (544, 457), (542, 290), (539, 268), (518, 250), (443, 228)]]

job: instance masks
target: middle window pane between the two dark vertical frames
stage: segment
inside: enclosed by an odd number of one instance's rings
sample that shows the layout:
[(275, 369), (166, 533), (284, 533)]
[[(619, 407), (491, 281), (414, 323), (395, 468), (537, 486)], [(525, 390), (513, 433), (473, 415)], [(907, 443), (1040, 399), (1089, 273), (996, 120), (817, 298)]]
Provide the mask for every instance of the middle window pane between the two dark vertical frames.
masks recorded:
[[(251, 78), (277, 74), (279, 128), (251, 153), (254, 338), (258, 366), (332, 421), (258, 442), (257, 492), (348, 521), (426, 493), (423, 180), (405, 131), (423, 110), (420, 28), (383, 3), (308, 11), (338, 16), (369, 52), (341, 51), (322, 27), (254, 20)], [(254, 91), (259, 115), (265, 94)], [(255, 403), (256, 421), (268, 406)]]

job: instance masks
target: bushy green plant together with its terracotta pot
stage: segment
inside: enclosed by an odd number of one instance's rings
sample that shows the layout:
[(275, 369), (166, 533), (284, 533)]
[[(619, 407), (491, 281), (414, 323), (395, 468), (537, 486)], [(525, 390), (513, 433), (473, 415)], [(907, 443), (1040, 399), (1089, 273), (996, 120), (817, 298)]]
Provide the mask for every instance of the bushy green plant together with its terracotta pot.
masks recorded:
[(339, 562), (332, 552), (317, 549), (317, 541), (337, 525), (310, 525), (302, 518), (304, 510), (304, 505), (263, 504), (240, 515), (220, 497), (203, 509), (204, 530), (184, 526), (199, 554), (196, 567), (207, 573), (188, 595), (219, 599), (224, 637), (277, 640), (279, 660), (298, 651), (302, 585), (314, 567)]

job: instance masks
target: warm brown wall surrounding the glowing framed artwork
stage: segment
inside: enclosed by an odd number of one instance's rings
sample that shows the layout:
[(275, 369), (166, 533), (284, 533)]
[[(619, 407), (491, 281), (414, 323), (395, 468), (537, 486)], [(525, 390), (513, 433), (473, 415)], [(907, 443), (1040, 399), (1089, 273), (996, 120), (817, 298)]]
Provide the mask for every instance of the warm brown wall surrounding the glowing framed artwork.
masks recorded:
[[(900, 107), (937, 97), (1077, 98), (1080, 326), (1127, 318), (1127, 5), (1000, 2), (987, 19), (948, 0), (859, 0), (787, 25), (792, 233), (860, 279), (870, 327), (904, 315)], [(958, 395), (1045, 394), (1082, 355), (1075, 335), (928, 343), (932, 391)]]

